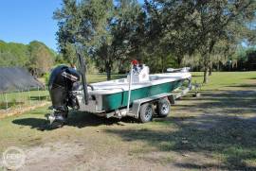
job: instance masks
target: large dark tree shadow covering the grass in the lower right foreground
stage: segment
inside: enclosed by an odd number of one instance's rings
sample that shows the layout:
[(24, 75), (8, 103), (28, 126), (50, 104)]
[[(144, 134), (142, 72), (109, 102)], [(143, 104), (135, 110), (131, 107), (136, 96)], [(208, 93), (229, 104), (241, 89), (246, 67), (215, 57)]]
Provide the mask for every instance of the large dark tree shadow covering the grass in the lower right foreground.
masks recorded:
[[(160, 125), (175, 126), (177, 130), (106, 129), (124, 141), (142, 141), (159, 151), (200, 152), (224, 156), (218, 164), (174, 163), (190, 169), (251, 169), (246, 160), (256, 159), (256, 118), (232, 116), (169, 117), (156, 121)], [(185, 141), (184, 141), (185, 140)]]

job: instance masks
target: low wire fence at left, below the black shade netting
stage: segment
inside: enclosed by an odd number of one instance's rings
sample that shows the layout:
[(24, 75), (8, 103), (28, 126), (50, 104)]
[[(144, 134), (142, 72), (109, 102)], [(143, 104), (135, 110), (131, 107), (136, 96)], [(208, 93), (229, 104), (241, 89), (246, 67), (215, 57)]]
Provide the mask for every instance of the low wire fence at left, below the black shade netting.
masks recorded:
[(0, 93), (0, 112), (34, 106), (49, 99), (47, 89), (41, 87)]

